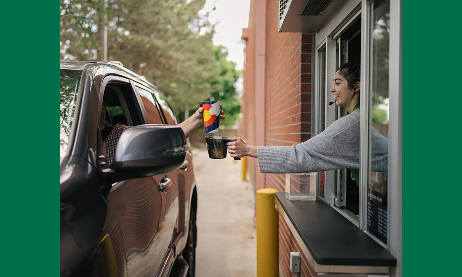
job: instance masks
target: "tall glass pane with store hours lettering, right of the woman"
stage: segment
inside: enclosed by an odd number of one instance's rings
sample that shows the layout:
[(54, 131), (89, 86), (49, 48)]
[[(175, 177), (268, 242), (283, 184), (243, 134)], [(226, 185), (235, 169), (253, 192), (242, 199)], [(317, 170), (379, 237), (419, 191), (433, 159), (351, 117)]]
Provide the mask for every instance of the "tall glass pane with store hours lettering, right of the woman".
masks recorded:
[(389, 1), (374, 1), (371, 28), (371, 173), (367, 194), (367, 230), (387, 242)]

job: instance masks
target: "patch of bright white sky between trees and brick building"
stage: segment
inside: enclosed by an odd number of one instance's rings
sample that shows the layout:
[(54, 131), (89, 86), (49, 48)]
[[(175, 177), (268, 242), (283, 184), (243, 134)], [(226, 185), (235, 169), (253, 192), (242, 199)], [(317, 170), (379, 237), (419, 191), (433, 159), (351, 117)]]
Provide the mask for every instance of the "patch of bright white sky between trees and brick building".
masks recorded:
[[(216, 9), (213, 10), (213, 6)], [(207, 0), (201, 14), (210, 12), (211, 23), (219, 22), (213, 36), (213, 44), (228, 48), (228, 60), (237, 63), (236, 68), (243, 68), (244, 47), (241, 42), (242, 28), (249, 23), (250, 0)]]

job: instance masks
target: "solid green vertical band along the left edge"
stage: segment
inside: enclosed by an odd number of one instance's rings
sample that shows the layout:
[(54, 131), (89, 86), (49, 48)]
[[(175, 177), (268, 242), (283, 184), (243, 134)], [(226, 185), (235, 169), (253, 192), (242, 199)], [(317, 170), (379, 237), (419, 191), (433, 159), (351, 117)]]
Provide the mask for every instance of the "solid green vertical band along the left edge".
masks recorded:
[(58, 27), (56, 4), (2, 3), (3, 276), (59, 274), (59, 192), (50, 152), (55, 149), (52, 133), (57, 135), (52, 124), (57, 97), (50, 90), (58, 78), (48, 78), (53, 68), (58, 71), (52, 38)]

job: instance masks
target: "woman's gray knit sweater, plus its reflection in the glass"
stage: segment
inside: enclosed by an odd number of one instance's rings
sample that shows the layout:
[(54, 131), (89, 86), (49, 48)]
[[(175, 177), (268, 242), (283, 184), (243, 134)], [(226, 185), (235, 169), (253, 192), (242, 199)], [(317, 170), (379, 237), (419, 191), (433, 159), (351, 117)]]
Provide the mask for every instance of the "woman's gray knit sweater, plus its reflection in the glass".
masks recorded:
[[(386, 172), (388, 139), (372, 130), (372, 157)], [(359, 110), (341, 117), (317, 136), (292, 146), (258, 146), (261, 173), (306, 173), (331, 169), (359, 169)], [(377, 155), (377, 153), (380, 153)], [(376, 164), (372, 161), (372, 166)]]

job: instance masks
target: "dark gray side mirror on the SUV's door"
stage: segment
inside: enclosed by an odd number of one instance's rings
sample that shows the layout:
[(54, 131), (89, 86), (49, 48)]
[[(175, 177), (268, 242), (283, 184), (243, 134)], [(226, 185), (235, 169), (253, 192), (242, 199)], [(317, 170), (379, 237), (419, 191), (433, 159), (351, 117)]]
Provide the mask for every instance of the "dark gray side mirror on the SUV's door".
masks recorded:
[(180, 126), (133, 126), (122, 132), (119, 138), (114, 173), (136, 174), (136, 178), (143, 178), (176, 170), (184, 162), (187, 151)]

